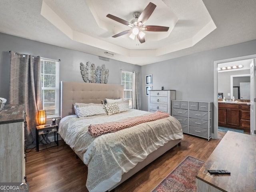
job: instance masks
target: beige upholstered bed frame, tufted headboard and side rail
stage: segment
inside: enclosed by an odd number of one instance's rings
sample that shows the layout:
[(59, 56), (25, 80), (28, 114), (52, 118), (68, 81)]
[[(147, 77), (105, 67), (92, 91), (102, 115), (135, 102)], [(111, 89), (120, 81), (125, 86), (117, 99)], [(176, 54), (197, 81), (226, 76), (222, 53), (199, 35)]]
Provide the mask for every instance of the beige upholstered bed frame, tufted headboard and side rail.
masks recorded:
[[(124, 87), (118, 84), (99, 84), (99, 83), (85, 83), (85, 82), (61, 82), (61, 118), (74, 114), (73, 104), (79, 103), (101, 103), (105, 98), (124, 98)], [(109, 189), (112, 190), (120, 185), (122, 182), (130, 178), (136, 172), (150, 164), (156, 158), (175, 147), (180, 145), (179, 140), (171, 140), (164, 146), (161, 146), (147, 156), (145, 160), (139, 162), (134, 168), (122, 175), (121, 181)], [(81, 160), (82, 154), (75, 152)]]

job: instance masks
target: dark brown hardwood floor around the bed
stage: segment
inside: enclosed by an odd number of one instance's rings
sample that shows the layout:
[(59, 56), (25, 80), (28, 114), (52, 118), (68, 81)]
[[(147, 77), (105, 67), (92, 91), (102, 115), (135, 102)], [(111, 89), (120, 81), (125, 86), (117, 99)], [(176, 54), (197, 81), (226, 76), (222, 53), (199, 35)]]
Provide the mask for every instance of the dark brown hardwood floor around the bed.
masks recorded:
[[(158, 185), (188, 155), (206, 161), (219, 139), (184, 134), (181, 146), (169, 150), (140, 172), (118, 186), (115, 192), (146, 192)], [(30, 192), (88, 192), (85, 184), (87, 167), (64, 141), (59, 146), (27, 153), (26, 176)]]

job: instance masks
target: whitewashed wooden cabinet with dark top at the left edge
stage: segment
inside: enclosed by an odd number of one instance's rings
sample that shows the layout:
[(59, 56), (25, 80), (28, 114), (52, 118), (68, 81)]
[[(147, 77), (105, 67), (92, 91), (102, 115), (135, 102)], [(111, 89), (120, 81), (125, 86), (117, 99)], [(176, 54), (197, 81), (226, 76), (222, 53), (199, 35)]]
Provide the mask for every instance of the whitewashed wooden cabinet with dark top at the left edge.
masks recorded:
[(6, 105), (0, 112), (0, 182), (26, 182), (24, 105)]

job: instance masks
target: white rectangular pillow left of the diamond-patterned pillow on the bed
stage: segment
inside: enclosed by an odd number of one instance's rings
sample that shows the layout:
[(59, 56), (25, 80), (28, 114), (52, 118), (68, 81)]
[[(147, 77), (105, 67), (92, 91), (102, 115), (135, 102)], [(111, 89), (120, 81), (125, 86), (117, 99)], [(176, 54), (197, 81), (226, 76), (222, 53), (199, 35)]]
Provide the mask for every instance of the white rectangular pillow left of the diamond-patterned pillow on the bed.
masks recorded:
[(76, 103), (76, 113), (79, 117), (106, 114), (102, 104), (78, 104)]

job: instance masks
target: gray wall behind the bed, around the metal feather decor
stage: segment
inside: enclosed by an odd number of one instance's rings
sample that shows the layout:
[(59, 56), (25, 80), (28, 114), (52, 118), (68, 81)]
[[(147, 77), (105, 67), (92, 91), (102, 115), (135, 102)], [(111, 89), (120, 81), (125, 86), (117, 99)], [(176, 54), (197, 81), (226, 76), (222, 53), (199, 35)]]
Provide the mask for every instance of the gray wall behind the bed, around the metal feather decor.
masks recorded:
[(112, 59), (104, 61), (92, 54), (0, 33), (0, 97), (7, 99), (10, 76), (10, 54), (8, 51), (10, 50), (44, 58), (60, 59), (60, 81), (83, 82), (80, 62), (86, 64), (88, 61), (94, 63), (95, 66), (106, 65), (106, 69), (109, 69), (108, 84), (121, 84), (121, 69), (141, 72), (141, 67), (133, 64)]

